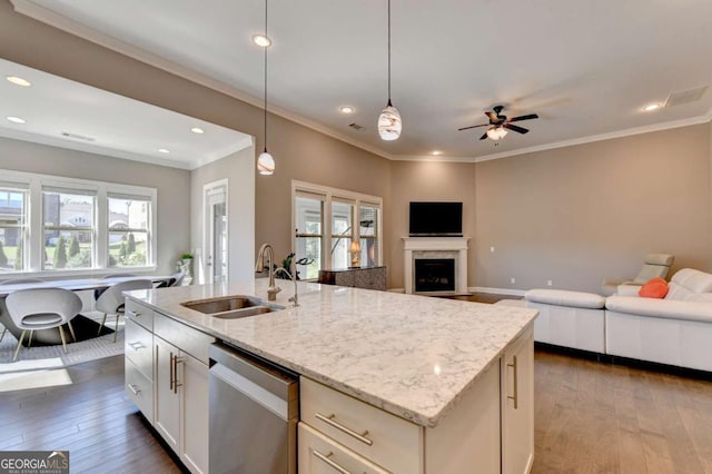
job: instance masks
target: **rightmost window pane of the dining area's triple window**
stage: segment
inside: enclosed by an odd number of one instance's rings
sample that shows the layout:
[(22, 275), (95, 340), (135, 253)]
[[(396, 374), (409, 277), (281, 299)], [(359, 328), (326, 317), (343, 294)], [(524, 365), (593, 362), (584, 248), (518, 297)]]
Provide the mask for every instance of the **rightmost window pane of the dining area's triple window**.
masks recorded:
[(108, 195), (109, 267), (145, 267), (150, 261), (150, 198)]

